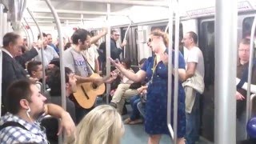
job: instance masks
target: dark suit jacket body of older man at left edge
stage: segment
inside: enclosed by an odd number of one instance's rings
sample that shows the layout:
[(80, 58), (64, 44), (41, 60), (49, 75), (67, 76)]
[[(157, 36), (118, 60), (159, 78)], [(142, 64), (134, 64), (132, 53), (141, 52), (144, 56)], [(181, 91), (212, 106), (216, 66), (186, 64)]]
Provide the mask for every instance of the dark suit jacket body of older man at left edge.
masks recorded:
[[(12, 82), (18, 79), (25, 79), (26, 71), (9, 54), (2, 51), (2, 103), (5, 106), (6, 90)], [(4, 114), (4, 113), (2, 113)]]

